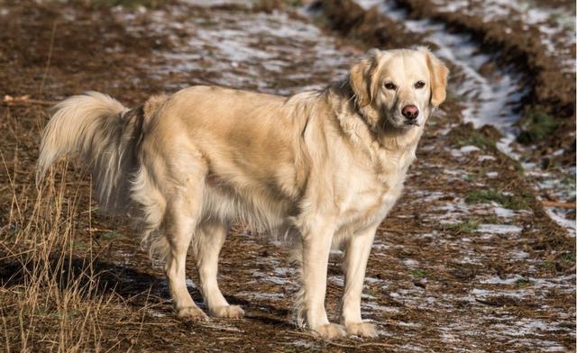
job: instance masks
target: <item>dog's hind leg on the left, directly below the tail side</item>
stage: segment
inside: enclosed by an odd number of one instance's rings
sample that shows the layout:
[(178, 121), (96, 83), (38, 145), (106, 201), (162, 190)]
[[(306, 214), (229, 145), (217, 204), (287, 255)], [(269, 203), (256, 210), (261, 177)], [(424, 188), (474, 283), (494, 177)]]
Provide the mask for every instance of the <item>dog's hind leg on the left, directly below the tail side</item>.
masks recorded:
[(169, 280), (169, 291), (179, 317), (206, 320), (206, 314), (197, 307), (186, 285), (187, 252), (197, 231), (202, 207), (202, 183), (179, 190), (167, 204), (165, 237), (169, 250), (164, 270)]

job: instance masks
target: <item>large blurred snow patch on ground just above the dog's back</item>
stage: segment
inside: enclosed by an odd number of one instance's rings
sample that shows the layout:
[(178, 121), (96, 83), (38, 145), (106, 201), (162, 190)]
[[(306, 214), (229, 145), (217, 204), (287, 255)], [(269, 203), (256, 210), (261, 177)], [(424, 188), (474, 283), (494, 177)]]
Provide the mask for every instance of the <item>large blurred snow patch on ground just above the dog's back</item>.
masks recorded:
[[(192, 1), (194, 5), (221, 2)], [(154, 72), (159, 77), (179, 73), (173, 89), (188, 86), (187, 76), (209, 77), (206, 84), (291, 95), (323, 88), (348, 72), (353, 53), (338, 50), (336, 41), (314, 24), (298, 21), (286, 12), (243, 14), (214, 9), (212, 19), (185, 16), (194, 11), (187, 4), (170, 12), (145, 14), (115, 10), (130, 32), (161, 32), (175, 43), (172, 50), (155, 52)], [(148, 23), (143, 26), (142, 23)], [(316, 63), (323, 62), (322, 66)], [(315, 66), (315, 77), (309, 68)], [(202, 75), (196, 75), (202, 72)], [(282, 84), (279, 74), (282, 73)], [(319, 79), (319, 76), (324, 77)], [(258, 79), (257, 79), (258, 77)]]

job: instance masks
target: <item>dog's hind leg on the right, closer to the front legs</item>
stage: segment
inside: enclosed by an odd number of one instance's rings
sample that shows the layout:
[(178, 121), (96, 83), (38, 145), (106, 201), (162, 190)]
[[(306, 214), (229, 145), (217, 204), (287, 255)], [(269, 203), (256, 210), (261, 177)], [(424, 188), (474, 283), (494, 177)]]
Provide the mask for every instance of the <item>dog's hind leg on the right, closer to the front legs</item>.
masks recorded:
[(218, 255), (223, 248), (227, 231), (228, 225), (224, 222), (212, 220), (203, 222), (195, 234), (193, 249), (197, 260), (200, 288), (209, 312), (216, 317), (240, 319), (244, 315), (243, 309), (226, 302), (216, 280)]

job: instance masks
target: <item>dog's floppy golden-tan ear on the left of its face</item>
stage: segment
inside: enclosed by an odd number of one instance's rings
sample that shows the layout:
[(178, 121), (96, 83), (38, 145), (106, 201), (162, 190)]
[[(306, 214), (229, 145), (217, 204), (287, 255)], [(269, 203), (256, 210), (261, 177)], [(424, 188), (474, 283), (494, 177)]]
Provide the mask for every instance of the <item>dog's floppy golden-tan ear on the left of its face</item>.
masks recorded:
[(371, 81), (379, 56), (380, 50), (369, 50), (366, 56), (360, 62), (354, 64), (349, 72), (349, 84), (353, 88), (357, 104), (361, 107), (371, 104)]

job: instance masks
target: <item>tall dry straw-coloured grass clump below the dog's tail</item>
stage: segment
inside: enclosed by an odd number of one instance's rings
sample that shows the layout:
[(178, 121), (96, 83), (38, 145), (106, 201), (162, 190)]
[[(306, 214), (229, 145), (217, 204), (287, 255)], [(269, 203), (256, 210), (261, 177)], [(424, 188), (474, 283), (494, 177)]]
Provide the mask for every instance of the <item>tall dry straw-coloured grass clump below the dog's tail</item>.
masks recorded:
[[(67, 164), (36, 188), (30, 178), (18, 179), (18, 158), (8, 164), (3, 156), (3, 162), (12, 202), (0, 231), (0, 346), (7, 352), (107, 351), (119, 344), (130, 350), (139, 330), (126, 342), (110, 337), (103, 326), (114, 321), (111, 315), (142, 322), (146, 305), (131, 311), (126, 299), (100, 284), (90, 231), (93, 210), (91, 203), (81, 203), (79, 186), (66, 182)], [(89, 224), (90, 240), (82, 247), (76, 240), (79, 219)]]

